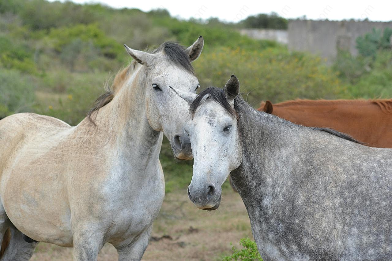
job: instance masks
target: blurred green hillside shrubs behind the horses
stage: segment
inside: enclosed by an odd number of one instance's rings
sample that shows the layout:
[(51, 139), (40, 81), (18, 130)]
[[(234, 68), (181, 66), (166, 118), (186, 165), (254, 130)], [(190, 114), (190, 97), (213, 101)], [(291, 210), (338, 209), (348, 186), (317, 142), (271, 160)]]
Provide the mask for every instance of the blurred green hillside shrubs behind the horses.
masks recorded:
[[(318, 56), (289, 51), (274, 41), (241, 36), (239, 28), (286, 29), (275, 13), (238, 23), (179, 20), (162, 9), (113, 9), (100, 4), (0, 0), (0, 118), (17, 112), (51, 115), (76, 125), (131, 58), (164, 41), (191, 45), (205, 39), (193, 64), (201, 86), (223, 86), (231, 74), (254, 107), (297, 99), (392, 97), (390, 35), (374, 30), (358, 38), (358, 56), (339, 53), (330, 66)], [(389, 37), (388, 37), (389, 36)], [(186, 187), (191, 164), (176, 163), (164, 142), (161, 159), (167, 191)], [(182, 182), (182, 183), (181, 183)]]

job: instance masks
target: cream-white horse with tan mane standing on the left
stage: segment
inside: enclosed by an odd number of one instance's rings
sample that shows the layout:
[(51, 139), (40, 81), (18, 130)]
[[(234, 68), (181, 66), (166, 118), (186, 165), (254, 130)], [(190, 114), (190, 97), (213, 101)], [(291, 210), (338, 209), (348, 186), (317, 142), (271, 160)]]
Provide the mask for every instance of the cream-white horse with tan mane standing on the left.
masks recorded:
[(106, 242), (119, 260), (142, 258), (165, 194), (163, 133), (176, 158), (192, 158), (189, 104), (169, 87), (196, 92), (191, 61), (203, 43), (125, 46), (134, 61), (77, 126), (33, 113), (0, 121), (0, 238), (11, 235), (2, 260), (30, 259), (36, 243), (23, 234), (74, 247), (74, 260), (96, 260)]

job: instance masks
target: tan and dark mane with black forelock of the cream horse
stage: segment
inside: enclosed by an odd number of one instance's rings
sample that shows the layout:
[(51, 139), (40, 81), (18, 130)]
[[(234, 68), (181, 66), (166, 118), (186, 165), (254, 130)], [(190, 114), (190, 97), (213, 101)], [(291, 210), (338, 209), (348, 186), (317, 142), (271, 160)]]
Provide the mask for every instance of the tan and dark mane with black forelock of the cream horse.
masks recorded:
[[(169, 63), (172, 63), (173, 65), (176, 65), (180, 68), (183, 68), (187, 72), (194, 74), (191, 60), (189, 59), (188, 54), (185, 52), (185, 47), (179, 45), (176, 42), (167, 41), (165, 43), (162, 43), (158, 48), (152, 50), (150, 53), (156, 54), (162, 51), (165, 53), (166, 58), (169, 60)], [(121, 88), (124, 81), (129, 77), (131, 72), (133, 72), (138, 67), (138, 65), (139, 63), (133, 60), (125, 69), (120, 70), (120, 72), (116, 74), (112, 86), (105, 86), (106, 92), (100, 95), (100, 97), (98, 97), (94, 101), (93, 107), (91, 108), (89, 113), (87, 113), (87, 117), (94, 125), (95, 123), (93, 119), (91, 119), (91, 115), (93, 114), (93, 112), (98, 112), (100, 108), (113, 100), (116, 91)]]

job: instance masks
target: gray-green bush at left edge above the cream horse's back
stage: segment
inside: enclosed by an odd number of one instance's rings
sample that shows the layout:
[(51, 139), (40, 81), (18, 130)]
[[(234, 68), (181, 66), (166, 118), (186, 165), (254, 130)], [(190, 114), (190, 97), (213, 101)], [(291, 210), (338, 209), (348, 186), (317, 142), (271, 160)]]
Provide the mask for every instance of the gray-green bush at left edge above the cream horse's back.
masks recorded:
[(29, 76), (15, 70), (0, 70), (0, 118), (17, 112), (30, 112), (35, 86)]

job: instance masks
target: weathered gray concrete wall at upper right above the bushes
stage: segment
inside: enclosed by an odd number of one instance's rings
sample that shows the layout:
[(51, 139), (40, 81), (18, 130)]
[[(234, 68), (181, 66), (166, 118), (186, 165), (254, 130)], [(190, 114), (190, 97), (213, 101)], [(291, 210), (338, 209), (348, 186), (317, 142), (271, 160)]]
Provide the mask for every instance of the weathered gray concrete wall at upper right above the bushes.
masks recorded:
[(356, 55), (357, 37), (372, 31), (374, 27), (382, 30), (392, 28), (392, 22), (290, 20), (288, 47), (330, 59), (336, 57), (338, 49)]

